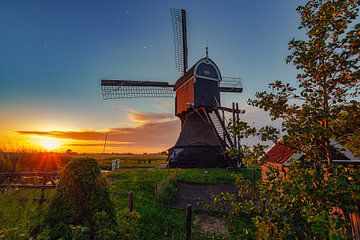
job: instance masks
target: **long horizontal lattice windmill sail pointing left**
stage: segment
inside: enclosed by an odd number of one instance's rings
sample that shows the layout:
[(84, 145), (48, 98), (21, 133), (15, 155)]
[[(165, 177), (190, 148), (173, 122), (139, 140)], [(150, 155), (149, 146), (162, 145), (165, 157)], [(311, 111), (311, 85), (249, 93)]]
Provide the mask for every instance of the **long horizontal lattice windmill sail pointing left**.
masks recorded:
[(168, 82), (101, 80), (104, 100), (119, 98), (172, 98), (174, 85)]

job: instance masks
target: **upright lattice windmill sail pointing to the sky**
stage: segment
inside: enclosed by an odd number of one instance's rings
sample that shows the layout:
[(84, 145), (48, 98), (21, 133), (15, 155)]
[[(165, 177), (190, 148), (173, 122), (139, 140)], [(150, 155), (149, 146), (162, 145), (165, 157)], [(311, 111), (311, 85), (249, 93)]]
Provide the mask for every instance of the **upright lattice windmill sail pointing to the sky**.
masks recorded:
[(174, 32), (175, 66), (181, 74), (184, 74), (188, 68), (186, 11), (172, 8), (170, 13)]

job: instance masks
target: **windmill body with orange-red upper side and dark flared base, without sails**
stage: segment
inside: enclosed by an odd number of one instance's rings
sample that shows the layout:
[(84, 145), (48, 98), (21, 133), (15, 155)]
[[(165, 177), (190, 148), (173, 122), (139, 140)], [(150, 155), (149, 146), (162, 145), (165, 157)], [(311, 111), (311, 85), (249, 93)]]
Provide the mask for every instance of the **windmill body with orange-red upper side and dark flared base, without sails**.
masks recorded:
[(169, 167), (226, 167), (221, 141), (207, 121), (220, 104), (221, 74), (209, 58), (199, 60), (175, 83), (175, 112), (181, 132), (169, 149)]

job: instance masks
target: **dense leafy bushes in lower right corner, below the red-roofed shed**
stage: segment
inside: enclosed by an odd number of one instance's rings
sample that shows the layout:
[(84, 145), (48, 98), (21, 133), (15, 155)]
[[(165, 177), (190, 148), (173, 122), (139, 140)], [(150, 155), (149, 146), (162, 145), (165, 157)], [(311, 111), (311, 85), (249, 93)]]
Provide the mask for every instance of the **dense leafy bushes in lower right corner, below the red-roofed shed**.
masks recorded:
[[(316, 169), (305, 163), (289, 166), (288, 177), (270, 169), (268, 179), (238, 179), (239, 194), (222, 195), (217, 202), (230, 205), (230, 228), (241, 239), (349, 239), (348, 213), (359, 196), (359, 168), (334, 165)], [(345, 219), (334, 212), (341, 208)], [(243, 228), (245, 219), (250, 222)], [(251, 229), (253, 230), (251, 231)], [(246, 230), (246, 231), (244, 231)], [(255, 236), (254, 236), (255, 235)]]

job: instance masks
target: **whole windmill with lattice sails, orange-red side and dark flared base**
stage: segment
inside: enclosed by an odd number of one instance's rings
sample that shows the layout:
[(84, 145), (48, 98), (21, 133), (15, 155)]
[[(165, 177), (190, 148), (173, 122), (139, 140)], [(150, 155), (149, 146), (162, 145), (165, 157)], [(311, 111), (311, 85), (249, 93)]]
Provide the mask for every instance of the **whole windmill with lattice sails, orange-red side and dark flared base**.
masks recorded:
[(238, 78), (225, 79), (215, 62), (206, 56), (188, 69), (186, 11), (171, 9), (176, 68), (182, 76), (175, 84), (156, 81), (101, 80), (104, 100), (119, 98), (174, 98), (181, 132), (169, 149), (168, 167), (236, 167), (241, 157), (230, 159), (224, 151), (239, 149), (239, 139), (226, 128), (225, 112), (239, 119), (238, 105), (220, 105), (220, 92), (241, 93)]

